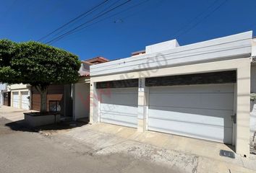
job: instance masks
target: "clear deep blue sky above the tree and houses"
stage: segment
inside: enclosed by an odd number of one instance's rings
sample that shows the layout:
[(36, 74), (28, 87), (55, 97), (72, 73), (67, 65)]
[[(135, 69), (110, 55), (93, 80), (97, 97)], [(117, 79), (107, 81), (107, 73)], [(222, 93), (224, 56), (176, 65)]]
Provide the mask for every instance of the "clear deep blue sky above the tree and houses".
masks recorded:
[[(1, 0), (0, 39), (38, 40), (101, 1)], [(62, 33), (92, 19), (108, 5), (124, 1), (108, 0), (98, 11), (69, 25)], [(130, 7), (135, 4), (140, 5)], [(130, 53), (145, 49), (145, 45), (174, 38), (179, 45), (187, 45), (256, 30), (255, 9), (255, 0), (132, 0), (103, 18), (120, 12), (116, 16), (74, 32), (52, 45), (69, 50), (81, 60), (95, 56), (127, 58)], [(48, 37), (43, 43), (54, 37)]]

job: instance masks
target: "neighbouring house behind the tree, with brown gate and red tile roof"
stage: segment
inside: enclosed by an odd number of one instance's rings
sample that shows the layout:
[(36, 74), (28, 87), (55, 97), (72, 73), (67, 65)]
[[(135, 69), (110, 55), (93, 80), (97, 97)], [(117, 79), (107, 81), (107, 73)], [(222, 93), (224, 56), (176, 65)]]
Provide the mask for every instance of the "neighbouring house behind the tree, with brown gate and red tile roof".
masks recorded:
[[(90, 112), (90, 65), (108, 61), (103, 57), (96, 57), (82, 61), (80, 79), (76, 84), (59, 84), (48, 86), (47, 110), (59, 112), (62, 117), (88, 119)], [(31, 110), (40, 110), (40, 94), (31, 88)], [(69, 118), (69, 119), (70, 119)], [(67, 119), (67, 120), (69, 120)]]

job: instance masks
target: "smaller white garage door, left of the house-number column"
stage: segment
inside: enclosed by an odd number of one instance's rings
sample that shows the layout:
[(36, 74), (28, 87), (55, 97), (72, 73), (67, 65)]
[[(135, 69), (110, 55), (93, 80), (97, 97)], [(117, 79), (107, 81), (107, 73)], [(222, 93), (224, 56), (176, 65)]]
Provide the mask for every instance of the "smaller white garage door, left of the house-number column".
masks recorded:
[(108, 89), (101, 94), (101, 122), (137, 128), (137, 88)]

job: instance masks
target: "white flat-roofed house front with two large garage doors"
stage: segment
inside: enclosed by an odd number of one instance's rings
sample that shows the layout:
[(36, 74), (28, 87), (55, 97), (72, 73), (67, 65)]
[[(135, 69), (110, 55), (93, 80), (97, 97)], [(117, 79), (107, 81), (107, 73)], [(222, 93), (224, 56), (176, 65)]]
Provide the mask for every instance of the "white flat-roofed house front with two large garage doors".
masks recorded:
[(243, 32), (90, 66), (90, 123), (227, 143), (249, 156), (251, 54), (252, 32)]

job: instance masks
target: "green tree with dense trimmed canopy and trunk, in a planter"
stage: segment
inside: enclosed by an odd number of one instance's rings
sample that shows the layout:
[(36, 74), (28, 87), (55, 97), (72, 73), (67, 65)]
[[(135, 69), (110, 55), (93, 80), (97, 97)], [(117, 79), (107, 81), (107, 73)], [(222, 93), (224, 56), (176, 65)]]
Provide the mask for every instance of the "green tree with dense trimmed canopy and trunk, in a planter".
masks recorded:
[(79, 68), (78, 57), (65, 50), (32, 41), (0, 40), (0, 81), (35, 86), (40, 92), (40, 112), (47, 111), (48, 86), (76, 82)]

